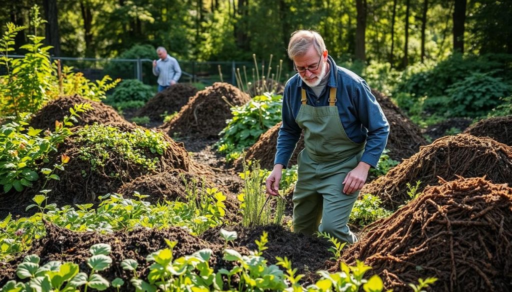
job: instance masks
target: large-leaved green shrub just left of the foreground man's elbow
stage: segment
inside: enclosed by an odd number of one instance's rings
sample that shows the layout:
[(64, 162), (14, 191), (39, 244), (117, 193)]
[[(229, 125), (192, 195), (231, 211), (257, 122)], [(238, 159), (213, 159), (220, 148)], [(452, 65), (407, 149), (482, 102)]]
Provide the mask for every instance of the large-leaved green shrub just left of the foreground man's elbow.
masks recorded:
[(247, 104), (231, 108), (233, 118), (219, 133), (222, 137), (216, 146), (229, 154), (241, 152), (253, 145), (262, 133), (281, 121), (281, 95), (260, 95)]

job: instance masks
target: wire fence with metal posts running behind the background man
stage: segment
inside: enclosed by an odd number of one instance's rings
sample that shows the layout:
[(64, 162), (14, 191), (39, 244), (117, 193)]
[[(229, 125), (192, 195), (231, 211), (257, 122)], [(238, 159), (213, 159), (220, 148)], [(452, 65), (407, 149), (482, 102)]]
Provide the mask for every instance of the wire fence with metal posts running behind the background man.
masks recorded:
[[(23, 55), (9, 55), (12, 58), (23, 58)], [(60, 60), (62, 66), (70, 66), (75, 72), (82, 72), (84, 77), (90, 80), (100, 80), (105, 75), (113, 79), (138, 79), (144, 84), (156, 85), (157, 77), (153, 75), (153, 60), (151, 59), (106, 59), (106, 58), (74, 58), (74, 57), (50, 57), (51, 61)], [(211, 85), (214, 82), (224, 81), (237, 85), (236, 72), (240, 70), (242, 81), (254, 83), (255, 66), (253, 62), (219, 61), (197, 62), (179, 61), (182, 75), (179, 82), (201, 82)], [(258, 72), (262, 74), (261, 65)], [(275, 74), (276, 70), (272, 69)], [(268, 68), (265, 69), (265, 75)], [(0, 67), (0, 75), (7, 74), (5, 68)], [(270, 76), (271, 74), (269, 74)]]

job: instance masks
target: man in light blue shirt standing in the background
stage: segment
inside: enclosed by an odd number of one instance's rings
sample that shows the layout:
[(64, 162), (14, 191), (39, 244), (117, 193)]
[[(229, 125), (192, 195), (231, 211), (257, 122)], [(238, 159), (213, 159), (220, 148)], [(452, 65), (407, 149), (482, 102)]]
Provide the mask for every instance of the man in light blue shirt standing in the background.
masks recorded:
[(158, 92), (161, 92), (178, 82), (181, 77), (181, 68), (175, 58), (167, 55), (164, 47), (158, 47), (157, 54), (160, 59), (153, 60), (153, 74), (158, 76)]

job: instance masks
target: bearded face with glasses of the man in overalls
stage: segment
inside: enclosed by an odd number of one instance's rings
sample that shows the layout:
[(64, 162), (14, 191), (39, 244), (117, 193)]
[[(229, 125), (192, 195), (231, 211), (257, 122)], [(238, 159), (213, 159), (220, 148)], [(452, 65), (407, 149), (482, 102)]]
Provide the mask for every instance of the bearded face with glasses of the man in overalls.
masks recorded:
[(324, 55), (322, 55), (322, 57), (318, 56), (313, 46), (309, 47), (306, 54), (295, 57), (293, 62), (299, 71), (308, 68), (304, 72), (298, 72), (298, 75), (301, 77), (302, 81), (310, 87), (317, 86), (326, 75), (325, 66), (327, 57)]

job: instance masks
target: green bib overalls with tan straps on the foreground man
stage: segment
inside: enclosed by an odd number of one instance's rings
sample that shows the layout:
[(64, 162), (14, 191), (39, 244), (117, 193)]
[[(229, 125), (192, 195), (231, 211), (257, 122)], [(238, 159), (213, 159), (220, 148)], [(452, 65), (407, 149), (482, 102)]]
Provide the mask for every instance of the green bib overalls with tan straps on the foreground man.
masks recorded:
[(310, 106), (302, 89), (295, 119), (304, 129), (305, 148), (298, 156), (298, 180), (293, 193), (293, 228), (312, 234), (328, 232), (343, 242), (356, 236), (347, 226), (358, 193), (343, 192), (343, 180), (364, 152), (365, 142), (352, 142), (339, 119), (336, 88), (330, 87), (329, 106)]

